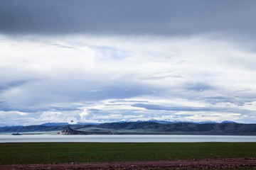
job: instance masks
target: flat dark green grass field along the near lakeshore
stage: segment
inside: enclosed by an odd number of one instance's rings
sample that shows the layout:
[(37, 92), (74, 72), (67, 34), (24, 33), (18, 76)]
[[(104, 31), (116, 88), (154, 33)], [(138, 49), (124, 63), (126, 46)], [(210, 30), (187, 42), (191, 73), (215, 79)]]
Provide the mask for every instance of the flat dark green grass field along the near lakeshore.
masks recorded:
[(1, 143), (0, 164), (256, 157), (256, 143)]

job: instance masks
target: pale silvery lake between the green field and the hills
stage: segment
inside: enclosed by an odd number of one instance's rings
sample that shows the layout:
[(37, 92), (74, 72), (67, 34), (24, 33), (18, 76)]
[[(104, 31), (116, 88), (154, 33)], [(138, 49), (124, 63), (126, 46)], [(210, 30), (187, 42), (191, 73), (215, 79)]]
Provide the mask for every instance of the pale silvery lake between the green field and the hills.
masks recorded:
[(0, 135), (0, 142), (256, 142), (231, 135)]

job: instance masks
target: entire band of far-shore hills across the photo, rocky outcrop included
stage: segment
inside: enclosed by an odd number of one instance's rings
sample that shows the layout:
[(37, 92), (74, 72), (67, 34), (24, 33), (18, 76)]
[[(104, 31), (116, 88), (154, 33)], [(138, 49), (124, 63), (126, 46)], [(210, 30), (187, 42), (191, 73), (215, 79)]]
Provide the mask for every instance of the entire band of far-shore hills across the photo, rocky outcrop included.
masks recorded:
[[(68, 128), (69, 127), (69, 128)], [(0, 132), (39, 133), (54, 132), (63, 135), (81, 134), (137, 134), (137, 135), (256, 135), (256, 124), (242, 123), (156, 123), (124, 122), (102, 123), (98, 125), (31, 125), (23, 127), (3, 127)], [(75, 131), (72, 131), (75, 130)]]

